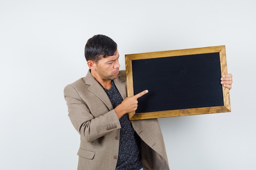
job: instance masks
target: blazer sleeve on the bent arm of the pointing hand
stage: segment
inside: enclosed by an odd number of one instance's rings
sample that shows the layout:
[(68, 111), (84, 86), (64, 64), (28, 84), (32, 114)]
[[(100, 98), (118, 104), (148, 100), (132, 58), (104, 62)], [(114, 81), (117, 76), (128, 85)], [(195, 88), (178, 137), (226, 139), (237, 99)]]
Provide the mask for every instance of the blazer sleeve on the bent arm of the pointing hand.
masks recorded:
[[(100, 101), (91, 101), (94, 102), (92, 108), (89, 102), (81, 99), (80, 96), (81, 94), (71, 84), (64, 88), (64, 97), (67, 102), (70, 120), (74, 128), (86, 141), (94, 141), (113, 130), (121, 128), (114, 109), (109, 110), (107, 107), (99, 107), (102, 106), (102, 103), (98, 103)], [(88, 98), (90, 99), (90, 96)], [(91, 112), (99, 113), (92, 114)]]

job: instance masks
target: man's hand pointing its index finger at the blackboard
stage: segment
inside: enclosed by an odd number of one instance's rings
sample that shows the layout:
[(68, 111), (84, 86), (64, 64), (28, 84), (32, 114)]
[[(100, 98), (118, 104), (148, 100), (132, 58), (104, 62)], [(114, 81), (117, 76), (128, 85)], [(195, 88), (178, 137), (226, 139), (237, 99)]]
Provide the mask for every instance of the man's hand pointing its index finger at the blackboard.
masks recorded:
[(133, 112), (138, 108), (138, 98), (148, 93), (148, 90), (144, 90), (137, 95), (132, 97), (126, 97), (124, 101), (119, 104), (114, 110), (117, 113), (118, 119), (120, 119), (124, 114)]

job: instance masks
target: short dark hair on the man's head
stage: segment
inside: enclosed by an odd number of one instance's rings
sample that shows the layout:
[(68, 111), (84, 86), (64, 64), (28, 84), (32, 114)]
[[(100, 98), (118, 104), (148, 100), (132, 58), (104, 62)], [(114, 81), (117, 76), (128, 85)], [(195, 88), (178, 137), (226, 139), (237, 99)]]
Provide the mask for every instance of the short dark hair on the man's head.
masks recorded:
[(106, 35), (94, 35), (85, 44), (85, 59), (98, 62), (101, 57), (115, 55), (117, 43)]

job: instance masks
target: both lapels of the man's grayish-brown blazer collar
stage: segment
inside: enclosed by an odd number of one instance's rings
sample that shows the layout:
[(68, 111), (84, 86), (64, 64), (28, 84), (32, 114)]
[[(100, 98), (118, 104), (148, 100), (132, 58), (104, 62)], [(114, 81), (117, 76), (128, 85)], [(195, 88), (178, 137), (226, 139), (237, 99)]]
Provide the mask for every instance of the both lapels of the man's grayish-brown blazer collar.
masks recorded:
[[(104, 104), (106, 104), (109, 110), (113, 109), (113, 106), (110, 102), (110, 99), (108, 98), (108, 95), (106, 94), (102, 86), (99, 84), (99, 82), (97, 82), (97, 80), (91, 75), (90, 69), (87, 75), (83, 78), (83, 81), (85, 82), (85, 84), (90, 85), (87, 88), (88, 91), (99, 97), (99, 99), (101, 99), (101, 101)], [(116, 79), (114, 79), (114, 83), (123, 99), (126, 98), (126, 78), (117, 77)]]

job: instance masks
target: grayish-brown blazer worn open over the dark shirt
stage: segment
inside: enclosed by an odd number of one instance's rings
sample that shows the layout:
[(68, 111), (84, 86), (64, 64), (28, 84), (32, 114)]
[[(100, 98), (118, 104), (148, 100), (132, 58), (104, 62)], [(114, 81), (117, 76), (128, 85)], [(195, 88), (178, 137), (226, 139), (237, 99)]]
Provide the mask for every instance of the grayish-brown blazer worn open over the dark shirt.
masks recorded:
[[(114, 80), (123, 98), (126, 93), (125, 71)], [(69, 84), (64, 89), (70, 120), (81, 136), (78, 170), (115, 170), (121, 125), (101, 85), (92, 77)], [(157, 119), (131, 121), (142, 139), (144, 170), (169, 170), (162, 132)]]

